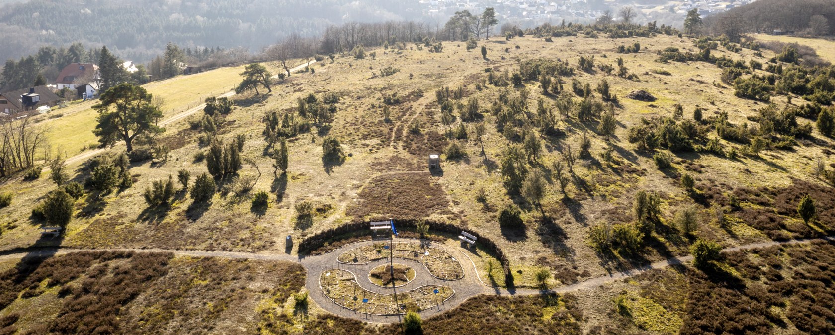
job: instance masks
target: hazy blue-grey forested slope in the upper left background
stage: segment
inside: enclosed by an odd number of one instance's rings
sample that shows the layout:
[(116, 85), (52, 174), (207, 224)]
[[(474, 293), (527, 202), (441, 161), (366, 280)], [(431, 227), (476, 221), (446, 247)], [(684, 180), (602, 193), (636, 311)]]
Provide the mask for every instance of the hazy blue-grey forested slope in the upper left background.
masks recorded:
[(43, 45), (107, 45), (144, 62), (167, 43), (184, 48), (258, 49), (289, 33), (313, 35), (331, 24), (414, 18), (417, 0), (281, 0), (191, 2), (30, 0), (0, 10), (0, 59), (19, 58)]

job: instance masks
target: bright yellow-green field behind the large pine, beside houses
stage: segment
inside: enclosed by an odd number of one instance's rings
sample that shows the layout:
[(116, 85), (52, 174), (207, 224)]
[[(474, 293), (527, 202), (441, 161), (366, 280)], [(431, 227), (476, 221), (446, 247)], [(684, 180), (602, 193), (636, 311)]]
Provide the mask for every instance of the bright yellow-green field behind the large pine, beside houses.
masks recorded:
[[(243, 66), (220, 68), (200, 74), (182, 75), (172, 79), (145, 84), (143, 87), (154, 97), (164, 99), (164, 118), (176, 112), (194, 107), (205, 98), (223, 94), (232, 89), (240, 79)], [(46, 119), (42, 124), (49, 129), (49, 144), (53, 152), (66, 156), (77, 155), (88, 145), (98, 145), (93, 135), (96, 128), (96, 112), (92, 109), (98, 100), (72, 104), (57, 109), (53, 114), (63, 114), (58, 119)], [(46, 116), (43, 116), (46, 117)]]

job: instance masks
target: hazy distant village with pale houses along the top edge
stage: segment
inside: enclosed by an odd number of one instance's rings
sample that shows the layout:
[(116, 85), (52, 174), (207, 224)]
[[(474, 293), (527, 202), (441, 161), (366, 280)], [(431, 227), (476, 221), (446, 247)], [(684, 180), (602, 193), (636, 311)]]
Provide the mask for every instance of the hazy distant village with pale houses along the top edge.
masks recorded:
[[(681, 15), (698, 8), (702, 17), (713, 13), (721, 13), (756, 0), (684, 0), (669, 2), (662, 5), (644, 5), (640, 3), (615, 2), (611, 0), (423, 0), (421, 5), (423, 14), (427, 16), (450, 15), (452, 13), (469, 10), (480, 12), (484, 8), (493, 7), (496, 13), (510, 21), (530, 21), (543, 23), (549, 20), (572, 18), (579, 23), (594, 22), (606, 10), (613, 13), (616, 8), (632, 7), (643, 13), (650, 20), (669, 17), (671, 14)], [(553, 21), (552, 21), (553, 22)]]

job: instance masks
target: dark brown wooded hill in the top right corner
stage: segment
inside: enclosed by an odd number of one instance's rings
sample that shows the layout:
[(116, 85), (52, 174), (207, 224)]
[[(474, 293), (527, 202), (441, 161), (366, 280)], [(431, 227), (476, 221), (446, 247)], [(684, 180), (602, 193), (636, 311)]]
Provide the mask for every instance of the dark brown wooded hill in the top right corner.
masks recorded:
[(771, 33), (776, 29), (807, 35), (835, 33), (835, 0), (759, 0), (705, 18), (710, 33)]

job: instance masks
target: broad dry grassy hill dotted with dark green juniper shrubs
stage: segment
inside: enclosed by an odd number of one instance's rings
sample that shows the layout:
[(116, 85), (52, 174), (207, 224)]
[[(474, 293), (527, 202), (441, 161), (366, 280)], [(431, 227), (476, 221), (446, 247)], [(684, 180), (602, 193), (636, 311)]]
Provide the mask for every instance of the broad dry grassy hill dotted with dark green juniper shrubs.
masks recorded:
[[(322, 58), (130, 155), (64, 166), (60, 190), (47, 170), (5, 180), (0, 249), (284, 252), (288, 235), (426, 219), (495, 241), (514, 284), (535, 288), (697, 241), (832, 235), (835, 69), (648, 29), (544, 26), (473, 41), (483, 49), (428, 40)], [(66, 233), (42, 238), (61, 218)], [(506, 285), (478, 264), (491, 269)]]

